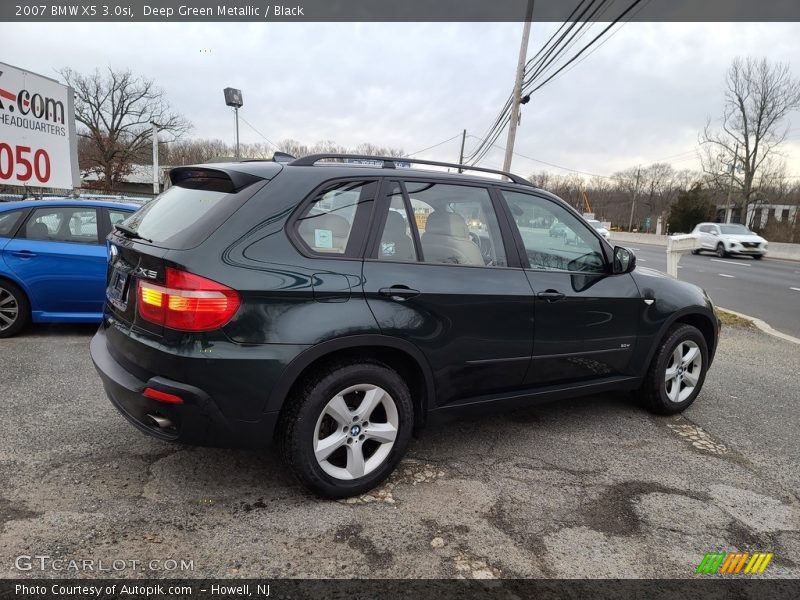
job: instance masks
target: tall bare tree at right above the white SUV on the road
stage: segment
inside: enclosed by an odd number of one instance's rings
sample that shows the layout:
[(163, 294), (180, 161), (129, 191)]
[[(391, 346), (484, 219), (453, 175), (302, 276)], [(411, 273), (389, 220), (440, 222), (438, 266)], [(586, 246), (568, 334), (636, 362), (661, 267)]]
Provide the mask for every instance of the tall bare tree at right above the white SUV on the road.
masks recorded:
[(744, 223), (748, 207), (759, 197), (759, 173), (786, 139), (786, 117), (800, 107), (800, 80), (786, 64), (737, 57), (726, 85), (720, 128), (709, 119), (700, 135), (701, 160), (709, 183), (717, 189), (731, 186), (741, 195), (736, 204)]

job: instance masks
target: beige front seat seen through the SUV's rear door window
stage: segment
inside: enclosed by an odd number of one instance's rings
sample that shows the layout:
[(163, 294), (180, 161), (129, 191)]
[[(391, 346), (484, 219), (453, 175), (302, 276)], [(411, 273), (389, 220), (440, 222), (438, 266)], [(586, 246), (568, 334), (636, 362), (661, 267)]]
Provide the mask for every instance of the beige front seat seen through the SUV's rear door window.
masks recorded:
[(422, 251), (425, 262), (485, 264), (480, 249), (469, 237), (466, 220), (454, 212), (437, 210), (428, 216), (422, 236)]

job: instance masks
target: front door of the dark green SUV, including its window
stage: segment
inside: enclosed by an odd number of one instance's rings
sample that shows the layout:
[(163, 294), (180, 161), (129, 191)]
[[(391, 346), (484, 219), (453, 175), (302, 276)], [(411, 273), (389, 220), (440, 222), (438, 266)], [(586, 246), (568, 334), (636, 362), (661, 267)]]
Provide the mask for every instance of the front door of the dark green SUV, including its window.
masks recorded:
[[(626, 375), (643, 300), (630, 274), (613, 275), (604, 243), (558, 202), (503, 191), (536, 306), (530, 386)], [(562, 223), (566, 237), (551, 237)]]

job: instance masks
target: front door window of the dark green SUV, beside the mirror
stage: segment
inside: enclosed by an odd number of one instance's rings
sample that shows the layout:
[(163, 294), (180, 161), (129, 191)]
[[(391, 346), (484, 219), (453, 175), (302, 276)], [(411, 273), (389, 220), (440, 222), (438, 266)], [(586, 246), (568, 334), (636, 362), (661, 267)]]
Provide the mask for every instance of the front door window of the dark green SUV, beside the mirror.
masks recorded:
[[(589, 225), (565, 207), (530, 194), (504, 191), (517, 224), (531, 269), (602, 273), (606, 269), (602, 244)], [(560, 223), (559, 235), (550, 228)]]

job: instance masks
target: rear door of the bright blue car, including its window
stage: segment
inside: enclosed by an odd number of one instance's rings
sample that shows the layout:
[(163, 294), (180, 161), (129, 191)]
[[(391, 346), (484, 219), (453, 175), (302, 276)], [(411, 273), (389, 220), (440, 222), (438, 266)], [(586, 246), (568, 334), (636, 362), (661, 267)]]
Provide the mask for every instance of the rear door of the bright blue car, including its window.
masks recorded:
[(5, 247), (5, 262), (25, 282), (34, 310), (96, 313), (103, 307), (106, 248), (91, 206), (33, 210)]

